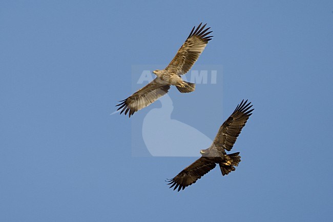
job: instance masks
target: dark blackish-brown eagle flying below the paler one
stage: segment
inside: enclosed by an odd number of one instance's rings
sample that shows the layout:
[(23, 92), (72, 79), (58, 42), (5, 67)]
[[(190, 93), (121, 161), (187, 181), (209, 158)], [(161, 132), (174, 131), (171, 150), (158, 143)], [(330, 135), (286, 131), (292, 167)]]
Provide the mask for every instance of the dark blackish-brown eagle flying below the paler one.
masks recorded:
[(249, 116), (252, 115), (252, 105), (247, 103), (247, 100), (242, 102), (236, 107), (231, 116), (220, 127), (213, 144), (201, 150), (201, 157), (193, 164), (186, 167), (177, 176), (172, 179), (166, 180), (170, 188), (178, 191), (183, 190), (185, 187), (194, 184), (204, 174), (208, 173), (218, 164), (220, 166), (222, 175), (227, 175), (231, 171), (235, 171), (240, 162), (239, 152), (226, 154), (225, 150), (231, 151), (238, 135)]

